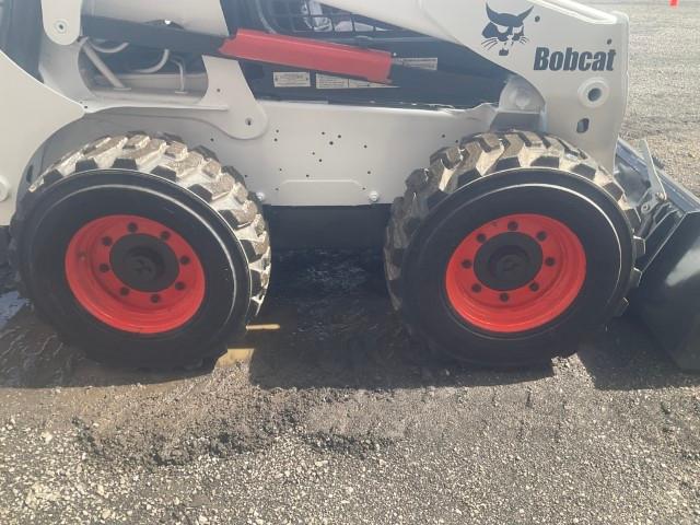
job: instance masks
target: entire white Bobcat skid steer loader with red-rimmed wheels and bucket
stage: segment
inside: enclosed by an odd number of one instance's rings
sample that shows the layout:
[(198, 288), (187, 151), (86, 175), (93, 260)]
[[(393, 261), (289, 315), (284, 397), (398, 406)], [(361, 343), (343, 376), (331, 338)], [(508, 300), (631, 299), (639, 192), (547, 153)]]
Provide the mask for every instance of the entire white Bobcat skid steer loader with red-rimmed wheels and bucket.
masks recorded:
[(94, 359), (215, 358), (271, 250), (376, 248), (427, 350), (567, 355), (632, 303), (700, 369), (700, 210), (618, 140), (628, 19), (571, 0), (2, 0), (0, 225)]

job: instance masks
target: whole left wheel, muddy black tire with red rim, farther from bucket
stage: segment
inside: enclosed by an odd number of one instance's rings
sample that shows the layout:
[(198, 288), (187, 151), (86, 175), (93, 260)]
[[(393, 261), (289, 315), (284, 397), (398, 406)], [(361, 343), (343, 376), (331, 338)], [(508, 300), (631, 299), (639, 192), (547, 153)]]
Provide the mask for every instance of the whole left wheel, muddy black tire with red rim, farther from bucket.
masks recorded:
[(219, 357), (265, 300), (271, 252), (243, 177), (173, 138), (107, 137), (51, 166), (11, 226), (21, 291), (92, 359)]

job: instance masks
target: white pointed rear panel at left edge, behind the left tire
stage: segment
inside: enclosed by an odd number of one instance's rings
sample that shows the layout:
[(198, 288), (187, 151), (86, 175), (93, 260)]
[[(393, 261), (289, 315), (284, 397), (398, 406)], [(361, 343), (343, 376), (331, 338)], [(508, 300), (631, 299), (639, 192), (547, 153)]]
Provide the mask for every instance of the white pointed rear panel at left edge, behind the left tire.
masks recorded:
[(4, 194), (0, 225), (7, 225), (30, 161), (51, 135), (81, 118), (83, 108), (24, 72), (2, 51), (0, 79), (0, 194)]

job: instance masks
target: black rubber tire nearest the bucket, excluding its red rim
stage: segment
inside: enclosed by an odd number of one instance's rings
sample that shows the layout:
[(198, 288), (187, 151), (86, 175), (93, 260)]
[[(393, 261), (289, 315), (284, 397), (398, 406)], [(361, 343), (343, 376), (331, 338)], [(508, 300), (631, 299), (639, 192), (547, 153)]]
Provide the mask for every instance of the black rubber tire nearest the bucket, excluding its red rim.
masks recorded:
[[(452, 307), (445, 269), (459, 242), (485, 223), (540, 213), (576, 233), (588, 258), (584, 287), (551, 323), (499, 334), (470, 325)], [(433, 155), (392, 208), (385, 269), (393, 304), (427, 348), (481, 365), (539, 364), (575, 352), (585, 332), (621, 315), (644, 243), (622, 188), (584, 152), (529, 131), (485, 133)]]

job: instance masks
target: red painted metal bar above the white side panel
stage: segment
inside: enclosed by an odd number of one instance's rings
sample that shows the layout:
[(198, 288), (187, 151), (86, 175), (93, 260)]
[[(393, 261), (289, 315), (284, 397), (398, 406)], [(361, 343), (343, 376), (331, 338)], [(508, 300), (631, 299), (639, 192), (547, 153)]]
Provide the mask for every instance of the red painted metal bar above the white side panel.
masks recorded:
[(386, 51), (238, 30), (235, 37), (224, 42), (219, 52), (242, 60), (390, 83), (392, 55)]

